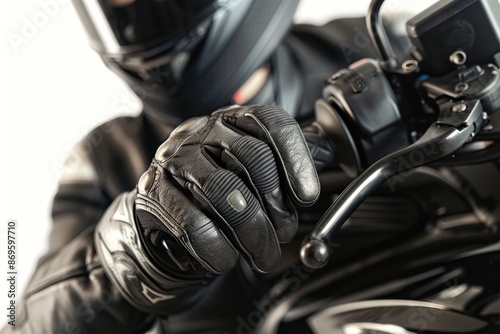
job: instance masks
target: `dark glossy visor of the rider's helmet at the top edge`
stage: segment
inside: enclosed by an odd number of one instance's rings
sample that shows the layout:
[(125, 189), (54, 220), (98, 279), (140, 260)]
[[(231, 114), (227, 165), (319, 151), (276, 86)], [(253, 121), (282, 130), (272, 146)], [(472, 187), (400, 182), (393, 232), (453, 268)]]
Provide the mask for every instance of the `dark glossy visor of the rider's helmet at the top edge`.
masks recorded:
[(94, 48), (106, 54), (142, 51), (181, 36), (225, 1), (78, 0), (75, 8)]

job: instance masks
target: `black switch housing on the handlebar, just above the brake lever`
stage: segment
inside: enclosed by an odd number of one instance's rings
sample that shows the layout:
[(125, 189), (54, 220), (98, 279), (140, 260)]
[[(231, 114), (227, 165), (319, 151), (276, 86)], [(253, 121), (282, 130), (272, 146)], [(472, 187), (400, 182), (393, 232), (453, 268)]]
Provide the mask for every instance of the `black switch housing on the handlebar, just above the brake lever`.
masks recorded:
[(349, 128), (362, 167), (409, 144), (394, 90), (376, 60), (362, 59), (331, 76), (323, 98)]

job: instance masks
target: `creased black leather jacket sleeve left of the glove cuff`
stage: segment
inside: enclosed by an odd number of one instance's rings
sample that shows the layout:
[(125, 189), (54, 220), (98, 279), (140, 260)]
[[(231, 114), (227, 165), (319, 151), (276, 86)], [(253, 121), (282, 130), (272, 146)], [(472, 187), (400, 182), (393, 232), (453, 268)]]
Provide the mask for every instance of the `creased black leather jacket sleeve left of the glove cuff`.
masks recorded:
[(110, 205), (83, 142), (70, 154), (53, 203), (47, 253), (1, 333), (140, 333), (146, 314), (110, 282), (96, 255), (96, 223)]

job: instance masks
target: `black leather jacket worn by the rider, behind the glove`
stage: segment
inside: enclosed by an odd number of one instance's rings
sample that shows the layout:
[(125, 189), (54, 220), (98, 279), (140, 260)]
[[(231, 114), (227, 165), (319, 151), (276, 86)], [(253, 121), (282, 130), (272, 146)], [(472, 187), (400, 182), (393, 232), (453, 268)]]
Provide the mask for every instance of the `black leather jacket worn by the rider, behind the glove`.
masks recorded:
[[(312, 116), (329, 75), (372, 56), (370, 45), (355, 44), (364, 31), (362, 19), (293, 29), (282, 50), (292, 55), (303, 83), (295, 116)], [(54, 198), (49, 249), (18, 303), (16, 326), (7, 325), (2, 333), (140, 333), (150, 327), (152, 319), (126, 302), (106, 277), (94, 248), (94, 228), (117, 196), (134, 189), (172, 128), (154, 125), (141, 113), (97, 127), (75, 147)], [(260, 280), (241, 263), (216, 280), (192, 309), (162, 320), (159, 331), (248, 332), (250, 325), (241, 319), (255, 307)]]

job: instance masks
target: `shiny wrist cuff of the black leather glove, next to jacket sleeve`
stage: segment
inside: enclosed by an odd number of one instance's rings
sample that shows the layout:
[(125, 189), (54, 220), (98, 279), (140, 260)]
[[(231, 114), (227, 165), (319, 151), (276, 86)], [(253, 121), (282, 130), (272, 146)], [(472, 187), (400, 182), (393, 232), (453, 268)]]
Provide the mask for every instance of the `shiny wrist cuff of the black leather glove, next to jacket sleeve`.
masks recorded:
[(96, 227), (95, 245), (107, 276), (139, 310), (167, 316), (180, 312), (202, 293), (204, 280), (169, 274), (149, 256), (134, 213), (135, 192), (118, 196)]

